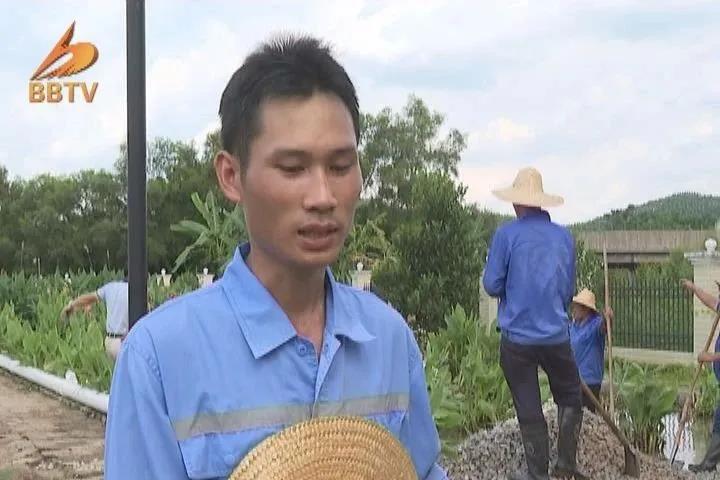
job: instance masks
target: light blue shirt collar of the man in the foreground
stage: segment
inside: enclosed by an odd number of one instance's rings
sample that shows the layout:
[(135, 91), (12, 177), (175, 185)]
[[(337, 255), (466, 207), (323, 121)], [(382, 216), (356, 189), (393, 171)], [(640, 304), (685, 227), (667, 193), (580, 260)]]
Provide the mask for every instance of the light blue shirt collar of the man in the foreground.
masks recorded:
[[(297, 331), (277, 301), (248, 268), (245, 257), (249, 252), (249, 243), (235, 250), (220, 283), (257, 359), (297, 337)], [(329, 268), (325, 282), (325, 334), (346, 337), (358, 343), (373, 340), (375, 337), (363, 325), (355, 302), (335, 281)]]

